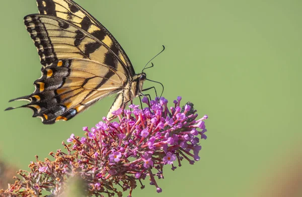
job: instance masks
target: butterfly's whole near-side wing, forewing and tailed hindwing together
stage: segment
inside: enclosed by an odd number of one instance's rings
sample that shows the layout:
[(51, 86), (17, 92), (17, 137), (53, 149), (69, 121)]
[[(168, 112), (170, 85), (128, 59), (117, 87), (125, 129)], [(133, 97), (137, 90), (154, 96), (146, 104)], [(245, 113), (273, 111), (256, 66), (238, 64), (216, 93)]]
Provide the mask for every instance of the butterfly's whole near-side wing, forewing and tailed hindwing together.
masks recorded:
[[(29, 15), (25, 25), (43, 68), (27, 107), (44, 124), (69, 120), (96, 101), (120, 93), (129, 80), (123, 63), (101, 41), (62, 19)], [(14, 108), (8, 108), (11, 110)]]

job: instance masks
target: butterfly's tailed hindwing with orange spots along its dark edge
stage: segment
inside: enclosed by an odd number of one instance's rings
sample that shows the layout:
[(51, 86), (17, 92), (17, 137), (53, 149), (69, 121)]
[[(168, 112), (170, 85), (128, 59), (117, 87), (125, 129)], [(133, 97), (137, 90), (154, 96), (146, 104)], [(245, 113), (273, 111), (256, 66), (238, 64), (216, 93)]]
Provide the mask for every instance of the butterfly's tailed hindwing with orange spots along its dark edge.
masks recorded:
[[(94, 66), (89, 66), (92, 64)], [(79, 69), (80, 65), (84, 65), (85, 71)], [(21, 107), (32, 109), (33, 117), (40, 117), (44, 124), (66, 121), (103, 97), (121, 91), (122, 79), (117, 71), (112, 71), (114, 75), (110, 79), (104, 76), (109, 70), (91, 60), (55, 61), (43, 69), (42, 76), (34, 82), (34, 93), (12, 101), (29, 101)]]

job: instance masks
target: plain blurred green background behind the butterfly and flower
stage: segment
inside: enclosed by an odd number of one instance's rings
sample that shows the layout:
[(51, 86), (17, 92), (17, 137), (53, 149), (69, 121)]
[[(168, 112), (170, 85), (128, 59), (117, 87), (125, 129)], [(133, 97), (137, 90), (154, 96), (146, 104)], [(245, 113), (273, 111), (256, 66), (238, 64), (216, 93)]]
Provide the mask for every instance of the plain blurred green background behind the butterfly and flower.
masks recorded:
[[(146, 188), (133, 196), (270, 196), (266, 192), (286, 190), (287, 180), (301, 173), (293, 167), (301, 160), (302, 142), (301, 1), (76, 2), (115, 36), (136, 72), (165, 45), (147, 77), (165, 85), (170, 103), (181, 95), (200, 117), (209, 116), (201, 160), (183, 162), (176, 171), (166, 167), (161, 194), (145, 181)], [(62, 148), (71, 133), (83, 136), (82, 127), (98, 123), (113, 102), (106, 98), (50, 126), (31, 118), (28, 109), (4, 112), (23, 104), (8, 101), (32, 93), (40, 77), (38, 54), (23, 24), (33, 13), (34, 0), (1, 1), (0, 154), (21, 169), (34, 155), (43, 159)]]

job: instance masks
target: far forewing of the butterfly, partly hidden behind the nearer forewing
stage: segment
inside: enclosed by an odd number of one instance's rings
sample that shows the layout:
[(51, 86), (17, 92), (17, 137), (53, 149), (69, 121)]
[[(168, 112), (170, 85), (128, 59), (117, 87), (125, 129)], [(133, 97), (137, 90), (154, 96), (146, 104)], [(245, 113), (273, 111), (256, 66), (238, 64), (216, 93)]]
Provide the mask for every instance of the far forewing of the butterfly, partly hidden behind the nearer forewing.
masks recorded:
[(37, 0), (37, 5), (40, 14), (68, 21), (103, 42), (108, 46), (110, 52), (115, 54), (123, 63), (127, 75), (132, 77), (135, 74), (129, 58), (116, 39), (100, 22), (78, 4), (71, 0)]

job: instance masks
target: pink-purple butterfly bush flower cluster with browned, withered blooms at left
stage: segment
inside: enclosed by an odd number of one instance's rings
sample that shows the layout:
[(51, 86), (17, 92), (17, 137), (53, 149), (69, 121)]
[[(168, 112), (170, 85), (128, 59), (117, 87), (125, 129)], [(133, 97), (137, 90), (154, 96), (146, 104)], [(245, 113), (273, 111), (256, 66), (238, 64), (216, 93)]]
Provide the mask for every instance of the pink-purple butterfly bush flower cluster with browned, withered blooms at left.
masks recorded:
[(86, 137), (72, 134), (67, 139), (69, 144), (63, 142), (66, 153), (57, 150), (50, 153), (54, 161), (32, 162), (31, 171), (20, 170), (22, 179), (15, 177), (17, 181), (5, 192), (31, 196), (47, 190), (60, 195), (73, 176), (83, 179), (87, 196), (122, 196), (128, 189), (131, 196), (137, 181), (144, 187), (141, 179), (146, 177), (157, 192), (162, 192), (156, 177), (163, 178), (165, 165), (175, 170), (184, 159), (190, 164), (200, 159), (199, 142), (206, 139), (207, 116), (196, 120), (193, 104), (181, 107), (180, 96), (171, 108), (164, 97), (152, 101), (144, 97), (142, 102), (144, 109), (132, 104), (129, 110), (113, 112), (118, 122), (103, 118), (96, 127), (84, 127)]

